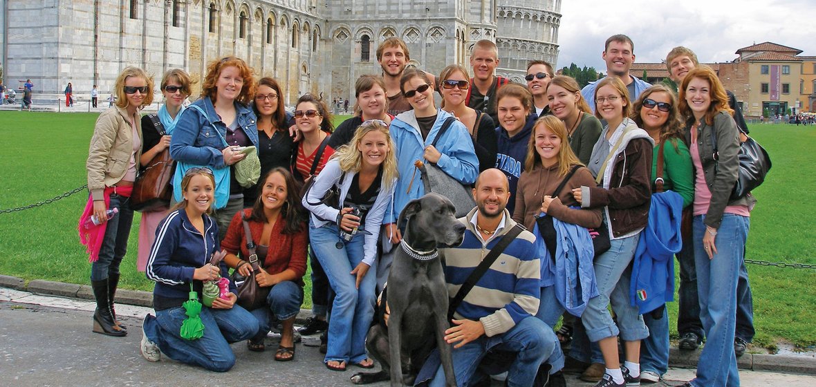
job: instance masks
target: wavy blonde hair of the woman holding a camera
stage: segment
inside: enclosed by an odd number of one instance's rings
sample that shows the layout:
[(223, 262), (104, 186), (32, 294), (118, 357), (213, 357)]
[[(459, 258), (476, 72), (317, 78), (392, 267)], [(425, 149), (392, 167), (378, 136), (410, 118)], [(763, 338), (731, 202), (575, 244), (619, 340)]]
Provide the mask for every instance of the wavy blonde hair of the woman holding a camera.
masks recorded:
[(385, 134), (388, 141), (388, 155), (385, 156), (383, 162), (383, 187), (390, 187), (394, 179), (397, 178), (397, 156), (395, 156), (394, 140), (391, 138), (391, 132), (388, 130), (388, 125), (384, 121), (369, 120), (365, 121), (357, 127), (354, 131), (354, 137), (348, 144), (339, 147), (333, 157), (336, 157), (340, 162), (340, 169), (344, 172), (360, 172), (362, 168), (362, 153), (357, 150), (357, 146), (362, 142), (362, 138), (373, 131), (379, 131)]

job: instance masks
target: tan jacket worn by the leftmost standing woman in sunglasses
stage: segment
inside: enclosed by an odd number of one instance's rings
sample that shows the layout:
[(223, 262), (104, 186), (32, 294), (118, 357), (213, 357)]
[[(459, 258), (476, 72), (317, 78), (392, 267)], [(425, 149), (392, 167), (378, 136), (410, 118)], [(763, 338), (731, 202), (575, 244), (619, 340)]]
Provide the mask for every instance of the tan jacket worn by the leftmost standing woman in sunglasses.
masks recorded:
[[(142, 138), (142, 122), (137, 117), (136, 133)], [(88, 151), (88, 191), (93, 200), (103, 200), (105, 187), (111, 187), (125, 176), (133, 152), (133, 129), (127, 121), (127, 111), (118, 106), (109, 108), (96, 119), (91, 148)], [(139, 167), (141, 149), (136, 151), (136, 168)]]

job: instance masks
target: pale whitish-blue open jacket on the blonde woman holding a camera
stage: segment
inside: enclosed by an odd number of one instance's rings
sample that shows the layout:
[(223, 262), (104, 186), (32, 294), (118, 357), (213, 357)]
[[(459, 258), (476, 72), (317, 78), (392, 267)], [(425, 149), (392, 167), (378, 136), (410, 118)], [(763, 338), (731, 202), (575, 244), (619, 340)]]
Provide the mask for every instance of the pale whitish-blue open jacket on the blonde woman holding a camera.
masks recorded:
[[(320, 200), (326, 194), (326, 191), (329, 191), (332, 186), (339, 183), (340, 176), (342, 174), (345, 174), (345, 177), (343, 178), (343, 184), (340, 186), (340, 196), (338, 202), (343, 203), (348, 195), (348, 189), (352, 186), (354, 174), (357, 174), (357, 172), (343, 172), (343, 169), (340, 169), (340, 162), (336, 158), (332, 158), (326, 162), (326, 165), (323, 166), (320, 174), (315, 176), (312, 187), (309, 188), (306, 195), (304, 195), (302, 202), (304, 207), (311, 212), (310, 216), (312, 217), (312, 222), (315, 227), (322, 227), (327, 223), (330, 223), (330, 221), (326, 221), (324, 219), (337, 219), (340, 209), (335, 209), (326, 204), (322, 204), (320, 203)], [(374, 200), (374, 205), (371, 206), (371, 209), (369, 209), (368, 213), (366, 214), (366, 222), (365, 226), (363, 227), (363, 230), (366, 231), (366, 235), (365, 242), (363, 243), (362, 262), (366, 263), (368, 266), (372, 266), (377, 257), (379, 225), (383, 222), (385, 209), (388, 208), (388, 204), (391, 203), (392, 197), (394, 196), (394, 187), (396, 187), (396, 185), (396, 178), (394, 181), (390, 182), (390, 184), (388, 182), (383, 182), (380, 186), (377, 199)], [(309, 203), (317, 203), (317, 205), (312, 205)]]

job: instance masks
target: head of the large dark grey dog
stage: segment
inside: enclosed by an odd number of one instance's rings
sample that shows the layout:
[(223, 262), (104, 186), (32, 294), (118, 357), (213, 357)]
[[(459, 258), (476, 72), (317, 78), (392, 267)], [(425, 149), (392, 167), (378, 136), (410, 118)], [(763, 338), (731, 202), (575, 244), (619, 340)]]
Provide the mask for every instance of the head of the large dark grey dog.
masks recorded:
[(437, 193), (408, 202), (398, 222), (406, 224), (405, 235), (415, 247), (429, 242), (436, 247), (453, 247), (464, 239), (465, 226), (456, 219), (454, 204)]

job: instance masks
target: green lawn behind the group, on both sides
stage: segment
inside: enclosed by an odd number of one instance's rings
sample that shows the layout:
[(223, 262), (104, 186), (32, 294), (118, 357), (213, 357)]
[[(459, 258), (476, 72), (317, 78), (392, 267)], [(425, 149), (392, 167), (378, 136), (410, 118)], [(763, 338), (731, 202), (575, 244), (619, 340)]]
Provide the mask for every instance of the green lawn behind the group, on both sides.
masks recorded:
[[(93, 113), (0, 112), (6, 145), (0, 149), (0, 209), (51, 199), (84, 185), (95, 117)], [(335, 122), (346, 117), (336, 117)], [(816, 126), (752, 125), (751, 130), (769, 152), (774, 168), (765, 185), (754, 192), (759, 203), (752, 212), (747, 257), (816, 264), (816, 229), (810, 219), (816, 199)], [(86, 284), (91, 265), (77, 233), (86, 200), (82, 191), (36, 209), (0, 213), (0, 274)], [(139, 224), (138, 213), (134, 224)], [(151, 290), (153, 283), (135, 270), (136, 239), (134, 227), (122, 264), (122, 286)], [(756, 265), (748, 270), (755, 344), (816, 345), (816, 270)], [(305, 303), (311, 304), (308, 296)], [(669, 305), (673, 335), (676, 309), (676, 302)]]

